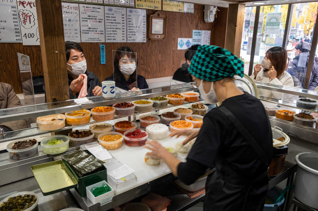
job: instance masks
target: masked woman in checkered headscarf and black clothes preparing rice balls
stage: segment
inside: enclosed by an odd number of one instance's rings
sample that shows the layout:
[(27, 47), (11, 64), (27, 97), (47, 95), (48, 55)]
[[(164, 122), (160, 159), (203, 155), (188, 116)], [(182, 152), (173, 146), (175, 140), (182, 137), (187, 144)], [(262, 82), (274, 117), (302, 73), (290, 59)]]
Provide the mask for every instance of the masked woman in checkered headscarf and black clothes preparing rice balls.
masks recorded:
[(205, 184), (204, 211), (263, 210), (272, 131), (259, 99), (235, 85), (233, 76), (243, 77), (244, 63), (226, 49), (203, 45), (198, 47), (188, 71), (203, 99), (221, 105), (204, 116), (186, 162), (156, 141), (146, 142), (145, 147), (187, 185), (212, 168)]

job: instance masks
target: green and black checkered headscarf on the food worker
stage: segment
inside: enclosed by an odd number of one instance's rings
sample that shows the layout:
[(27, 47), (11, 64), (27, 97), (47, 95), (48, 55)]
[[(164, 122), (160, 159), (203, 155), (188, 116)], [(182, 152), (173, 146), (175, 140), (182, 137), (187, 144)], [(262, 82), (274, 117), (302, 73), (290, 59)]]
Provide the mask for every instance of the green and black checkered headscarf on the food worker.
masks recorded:
[(230, 51), (214, 45), (201, 45), (191, 59), (189, 73), (205, 81), (244, 76), (244, 63)]

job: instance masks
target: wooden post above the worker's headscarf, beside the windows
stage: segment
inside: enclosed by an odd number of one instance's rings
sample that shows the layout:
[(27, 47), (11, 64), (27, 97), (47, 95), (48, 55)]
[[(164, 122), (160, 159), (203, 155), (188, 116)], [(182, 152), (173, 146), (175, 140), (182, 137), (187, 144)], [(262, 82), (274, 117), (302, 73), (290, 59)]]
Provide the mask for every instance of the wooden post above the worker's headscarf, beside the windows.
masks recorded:
[(229, 5), (225, 49), (231, 51), (237, 57), (239, 57), (241, 50), (244, 13), (245, 4), (233, 3)]

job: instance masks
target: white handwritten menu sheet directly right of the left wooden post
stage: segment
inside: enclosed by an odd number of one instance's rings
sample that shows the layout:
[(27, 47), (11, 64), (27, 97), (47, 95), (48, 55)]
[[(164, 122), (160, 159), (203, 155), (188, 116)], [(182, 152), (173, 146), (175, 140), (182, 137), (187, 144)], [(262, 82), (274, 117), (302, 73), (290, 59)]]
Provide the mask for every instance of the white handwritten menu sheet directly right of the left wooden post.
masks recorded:
[(62, 2), (65, 41), (80, 43), (79, 4)]

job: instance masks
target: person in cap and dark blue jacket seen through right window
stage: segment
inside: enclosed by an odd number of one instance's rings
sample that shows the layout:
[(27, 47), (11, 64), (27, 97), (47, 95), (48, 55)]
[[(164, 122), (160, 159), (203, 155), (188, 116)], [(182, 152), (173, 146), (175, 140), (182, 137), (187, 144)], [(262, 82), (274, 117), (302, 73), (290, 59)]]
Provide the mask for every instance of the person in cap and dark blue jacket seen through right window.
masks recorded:
[[(310, 49), (311, 49), (311, 44), (304, 41), (298, 43), (295, 46), (295, 49), (294, 49), (295, 57), (293, 61), (291, 62), (291, 68), (287, 70), (287, 72), (293, 77), (294, 86), (301, 86), (301, 88), (303, 88), (304, 86)], [(306, 62), (306, 64), (299, 63), (300, 53), (308, 53), (307, 60), (304, 61)], [(317, 86), (318, 86), (318, 58), (315, 56), (314, 64), (311, 69), (311, 76), (310, 76), (308, 89), (314, 90)]]

